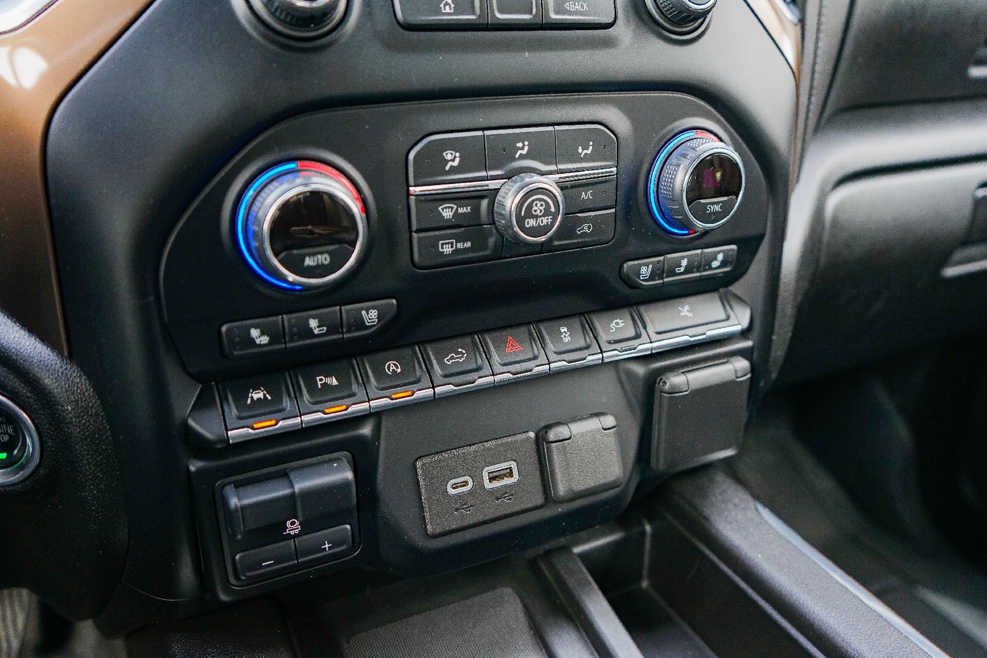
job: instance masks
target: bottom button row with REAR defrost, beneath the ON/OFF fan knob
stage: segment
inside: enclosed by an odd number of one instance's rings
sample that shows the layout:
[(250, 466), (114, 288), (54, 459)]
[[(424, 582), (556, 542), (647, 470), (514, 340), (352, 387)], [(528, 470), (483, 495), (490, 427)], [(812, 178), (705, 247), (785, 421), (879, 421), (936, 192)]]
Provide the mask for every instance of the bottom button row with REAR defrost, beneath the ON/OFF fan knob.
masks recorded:
[(504, 240), (493, 225), (426, 231), (412, 234), (412, 256), (417, 267), (429, 269), (563, 252), (605, 245), (613, 240), (616, 229), (616, 211), (610, 209), (566, 215), (552, 237), (540, 245)]

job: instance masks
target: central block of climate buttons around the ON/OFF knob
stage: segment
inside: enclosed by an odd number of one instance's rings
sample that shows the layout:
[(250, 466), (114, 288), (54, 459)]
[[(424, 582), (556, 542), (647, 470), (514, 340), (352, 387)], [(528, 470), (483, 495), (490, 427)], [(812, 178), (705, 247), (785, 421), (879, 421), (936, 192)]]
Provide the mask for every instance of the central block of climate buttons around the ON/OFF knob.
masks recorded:
[(408, 156), (422, 269), (605, 245), (617, 138), (599, 124), (431, 135)]

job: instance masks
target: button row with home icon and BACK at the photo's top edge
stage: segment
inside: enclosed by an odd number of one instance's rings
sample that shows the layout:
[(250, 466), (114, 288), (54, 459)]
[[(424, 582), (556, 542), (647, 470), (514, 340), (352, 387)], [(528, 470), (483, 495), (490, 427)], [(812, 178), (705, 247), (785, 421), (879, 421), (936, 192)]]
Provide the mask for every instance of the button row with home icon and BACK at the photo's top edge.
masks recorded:
[(614, 0), (395, 0), (406, 28), (537, 30), (607, 28)]

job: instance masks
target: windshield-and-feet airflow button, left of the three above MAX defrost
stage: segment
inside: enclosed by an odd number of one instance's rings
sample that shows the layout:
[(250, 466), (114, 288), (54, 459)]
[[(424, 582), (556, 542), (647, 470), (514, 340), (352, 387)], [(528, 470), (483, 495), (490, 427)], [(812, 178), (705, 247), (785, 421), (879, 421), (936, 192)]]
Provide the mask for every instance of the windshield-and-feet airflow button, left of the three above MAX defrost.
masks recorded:
[[(433, 2), (423, 1), (429, 6)], [(463, 6), (472, 4), (465, 0), (456, 0), (456, 5), (460, 3)], [(434, 4), (437, 6), (438, 3)], [(486, 5), (484, 2), (484, 7)], [(483, 181), (486, 178), (484, 133), (479, 130), (425, 137), (408, 156), (408, 179), (412, 185), (462, 183)]]

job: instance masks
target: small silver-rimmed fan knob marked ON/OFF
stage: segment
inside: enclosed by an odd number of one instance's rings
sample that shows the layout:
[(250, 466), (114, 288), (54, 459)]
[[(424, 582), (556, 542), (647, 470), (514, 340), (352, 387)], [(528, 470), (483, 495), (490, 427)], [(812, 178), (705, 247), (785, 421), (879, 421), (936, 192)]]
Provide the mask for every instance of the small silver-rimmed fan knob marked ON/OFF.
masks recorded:
[(544, 176), (521, 174), (500, 187), (493, 203), (493, 223), (511, 242), (539, 245), (559, 228), (564, 211), (559, 185)]

